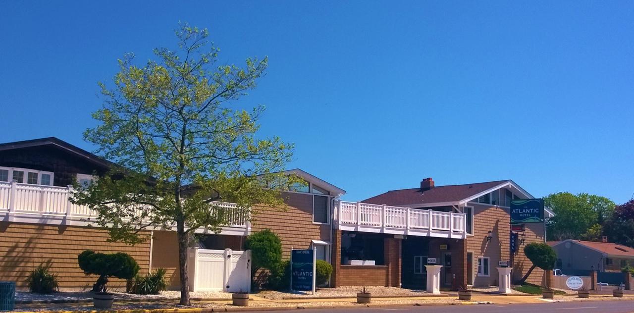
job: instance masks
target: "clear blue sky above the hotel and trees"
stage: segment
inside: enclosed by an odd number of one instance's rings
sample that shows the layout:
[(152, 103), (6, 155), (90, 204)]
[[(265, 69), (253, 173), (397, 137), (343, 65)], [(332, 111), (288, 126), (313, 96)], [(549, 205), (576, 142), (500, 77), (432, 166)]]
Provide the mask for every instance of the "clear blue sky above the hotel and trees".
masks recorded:
[[(185, 2), (185, 1), (183, 1)], [(210, 29), (223, 63), (269, 56), (241, 106), (300, 167), (363, 200), (513, 179), (622, 203), (634, 193), (631, 1), (0, 2), (0, 142), (87, 150), (117, 58)], [(231, 4), (229, 4), (231, 3)]]

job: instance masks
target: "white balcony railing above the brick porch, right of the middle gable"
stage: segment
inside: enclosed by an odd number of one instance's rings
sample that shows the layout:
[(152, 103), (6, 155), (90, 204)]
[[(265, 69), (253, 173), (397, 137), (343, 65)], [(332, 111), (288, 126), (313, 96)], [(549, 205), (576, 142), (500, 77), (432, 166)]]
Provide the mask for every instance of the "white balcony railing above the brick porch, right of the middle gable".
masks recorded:
[(376, 233), (464, 238), (465, 214), (338, 201), (335, 220), (340, 229)]

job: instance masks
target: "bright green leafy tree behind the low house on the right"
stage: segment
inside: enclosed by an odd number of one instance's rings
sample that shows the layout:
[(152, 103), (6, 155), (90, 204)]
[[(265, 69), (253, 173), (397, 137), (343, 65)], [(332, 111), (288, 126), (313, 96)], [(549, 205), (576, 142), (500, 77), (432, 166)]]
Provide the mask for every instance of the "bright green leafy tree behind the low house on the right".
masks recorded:
[(587, 193), (554, 193), (544, 198), (544, 204), (555, 213), (547, 222), (548, 240), (579, 239), (593, 225), (604, 224), (614, 211), (614, 202)]

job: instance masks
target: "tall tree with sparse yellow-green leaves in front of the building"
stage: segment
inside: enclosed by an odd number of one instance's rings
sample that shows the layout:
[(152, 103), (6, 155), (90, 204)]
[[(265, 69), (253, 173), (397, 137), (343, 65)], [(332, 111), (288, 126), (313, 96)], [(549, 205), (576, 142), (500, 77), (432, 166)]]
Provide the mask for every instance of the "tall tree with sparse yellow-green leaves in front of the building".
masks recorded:
[[(256, 139), (264, 108), (236, 106), (267, 67), (248, 58), (243, 67), (217, 65), (219, 49), (206, 29), (180, 25), (178, 49), (154, 50), (155, 59), (119, 60), (108, 87), (100, 84), (99, 123), (84, 134), (113, 169), (75, 195), (75, 203), (98, 212), (114, 241), (148, 239), (148, 227), (175, 227), (182, 305), (190, 304), (186, 252), (195, 229), (219, 231), (256, 203), (282, 207), (280, 189), (294, 183), (279, 173), (292, 145), (278, 137)], [(237, 203), (231, 215), (215, 201)]]

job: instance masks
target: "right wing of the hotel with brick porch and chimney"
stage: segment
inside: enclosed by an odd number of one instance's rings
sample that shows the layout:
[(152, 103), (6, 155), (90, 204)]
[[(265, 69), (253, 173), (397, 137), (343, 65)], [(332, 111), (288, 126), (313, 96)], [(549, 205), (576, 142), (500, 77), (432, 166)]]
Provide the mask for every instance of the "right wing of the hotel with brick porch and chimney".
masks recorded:
[[(510, 253), (510, 201), (526, 198), (533, 196), (510, 180), (435, 186), (427, 178), (361, 203), (340, 201), (332, 283), (424, 288), (428, 258), (443, 265), (444, 288), (496, 285), (500, 261), (519, 279), (532, 265), (524, 246), (545, 241), (544, 223), (526, 224), (519, 251)], [(542, 279), (536, 270), (528, 281)]]

